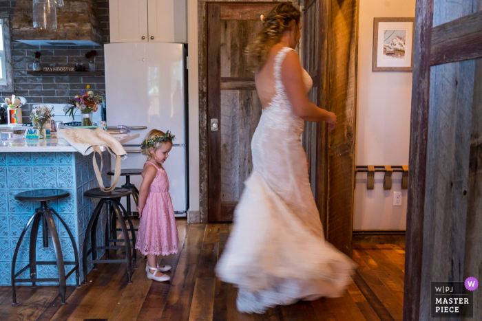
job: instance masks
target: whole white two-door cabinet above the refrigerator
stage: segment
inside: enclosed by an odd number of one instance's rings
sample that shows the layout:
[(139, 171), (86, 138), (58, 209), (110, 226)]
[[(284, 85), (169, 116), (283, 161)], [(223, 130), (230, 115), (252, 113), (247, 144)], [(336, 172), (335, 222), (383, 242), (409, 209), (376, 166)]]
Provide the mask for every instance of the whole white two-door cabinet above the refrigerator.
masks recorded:
[(187, 43), (187, 0), (109, 0), (110, 42)]

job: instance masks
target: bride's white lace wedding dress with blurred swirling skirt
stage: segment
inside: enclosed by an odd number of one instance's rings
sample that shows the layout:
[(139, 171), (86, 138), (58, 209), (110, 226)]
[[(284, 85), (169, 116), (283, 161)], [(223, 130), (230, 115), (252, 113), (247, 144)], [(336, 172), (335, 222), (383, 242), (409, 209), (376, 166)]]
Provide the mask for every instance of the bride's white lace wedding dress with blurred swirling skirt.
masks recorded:
[[(240, 312), (342, 296), (356, 267), (324, 239), (300, 140), (304, 122), (293, 113), (281, 80), (289, 50), (275, 57), (275, 96), (253, 135), (253, 173), (216, 267), (222, 281), (239, 288)], [(313, 83), (306, 71), (304, 82), (308, 92)]]

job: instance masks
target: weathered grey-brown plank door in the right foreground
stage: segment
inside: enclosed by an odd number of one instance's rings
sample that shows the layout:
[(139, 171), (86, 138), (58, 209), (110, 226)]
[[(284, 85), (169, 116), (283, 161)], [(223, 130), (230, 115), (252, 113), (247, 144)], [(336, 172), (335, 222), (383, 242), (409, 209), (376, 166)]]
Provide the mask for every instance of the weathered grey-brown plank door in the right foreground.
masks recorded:
[[(417, 1), (406, 321), (431, 318), (431, 281), (482, 279), (481, 26), (482, 1)], [(482, 320), (477, 291), (472, 320)]]

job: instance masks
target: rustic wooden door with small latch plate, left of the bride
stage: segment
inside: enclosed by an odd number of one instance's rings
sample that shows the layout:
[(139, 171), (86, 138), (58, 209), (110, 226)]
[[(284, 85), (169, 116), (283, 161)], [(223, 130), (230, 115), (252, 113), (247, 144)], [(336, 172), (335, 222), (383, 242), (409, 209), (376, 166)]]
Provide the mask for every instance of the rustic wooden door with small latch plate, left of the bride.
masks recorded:
[[(251, 137), (261, 116), (244, 49), (276, 3), (207, 3), (209, 221), (232, 221), (253, 163)], [(211, 122), (218, 123), (213, 131)]]

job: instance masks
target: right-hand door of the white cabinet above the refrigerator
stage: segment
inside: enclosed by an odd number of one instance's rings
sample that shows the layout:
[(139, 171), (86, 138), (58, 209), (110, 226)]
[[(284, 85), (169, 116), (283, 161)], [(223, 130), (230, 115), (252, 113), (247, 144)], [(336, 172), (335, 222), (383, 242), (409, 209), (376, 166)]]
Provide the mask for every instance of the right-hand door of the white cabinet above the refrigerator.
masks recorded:
[(186, 0), (148, 0), (149, 41), (187, 43)]

